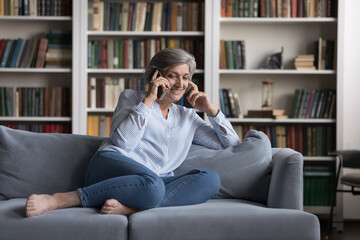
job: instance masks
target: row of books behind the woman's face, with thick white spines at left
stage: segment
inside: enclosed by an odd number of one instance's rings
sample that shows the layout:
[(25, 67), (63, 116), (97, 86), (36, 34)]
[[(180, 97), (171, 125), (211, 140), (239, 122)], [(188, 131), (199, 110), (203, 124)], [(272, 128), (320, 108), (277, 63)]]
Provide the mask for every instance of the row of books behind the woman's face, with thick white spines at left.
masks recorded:
[[(204, 90), (203, 79), (196, 77), (192, 81), (200, 91)], [(88, 107), (115, 109), (118, 98), (124, 89), (146, 91), (147, 83), (144, 78), (90, 77), (88, 79)], [(191, 107), (184, 98), (177, 104)]]

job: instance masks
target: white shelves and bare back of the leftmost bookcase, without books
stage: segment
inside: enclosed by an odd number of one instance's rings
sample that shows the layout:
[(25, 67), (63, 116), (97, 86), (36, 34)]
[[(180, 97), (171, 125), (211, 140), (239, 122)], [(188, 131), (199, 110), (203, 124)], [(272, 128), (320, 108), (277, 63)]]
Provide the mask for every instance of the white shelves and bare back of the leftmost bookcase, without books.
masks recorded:
[[(76, 2), (76, 1), (75, 1)], [(44, 36), (49, 30), (72, 31), (71, 16), (0, 16), (2, 39), (32, 39)], [(73, 88), (72, 68), (0, 68), (1, 87)], [(76, 109), (76, 108), (73, 108)], [(0, 117), (0, 123), (69, 123), (69, 117)]]

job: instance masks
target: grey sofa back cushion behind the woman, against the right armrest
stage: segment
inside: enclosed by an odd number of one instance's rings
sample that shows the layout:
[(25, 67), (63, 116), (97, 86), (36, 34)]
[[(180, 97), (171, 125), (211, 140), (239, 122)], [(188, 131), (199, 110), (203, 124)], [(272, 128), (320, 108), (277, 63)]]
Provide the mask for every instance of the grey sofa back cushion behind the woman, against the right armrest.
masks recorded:
[(272, 151), (268, 137), (250, 130), (235, 147), (212, 150), (193, 145), (184, 163), (175, 171), (209, 168), (220, 175), (218, 198), (238, 198), (266, 203), (270, 184)]

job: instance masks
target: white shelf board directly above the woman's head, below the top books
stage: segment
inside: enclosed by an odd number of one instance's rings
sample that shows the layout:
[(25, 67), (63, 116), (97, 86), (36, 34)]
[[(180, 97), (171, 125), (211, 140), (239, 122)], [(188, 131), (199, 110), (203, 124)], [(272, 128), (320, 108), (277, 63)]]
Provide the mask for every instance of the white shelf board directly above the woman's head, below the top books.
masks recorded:
[(204, 32), (178, 31), (178, 32), (134, 32), (134, 31), (87, 31), (88, 36), (113, 37), (203, 37)]

